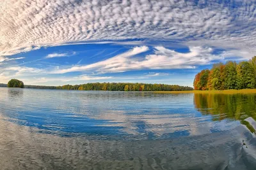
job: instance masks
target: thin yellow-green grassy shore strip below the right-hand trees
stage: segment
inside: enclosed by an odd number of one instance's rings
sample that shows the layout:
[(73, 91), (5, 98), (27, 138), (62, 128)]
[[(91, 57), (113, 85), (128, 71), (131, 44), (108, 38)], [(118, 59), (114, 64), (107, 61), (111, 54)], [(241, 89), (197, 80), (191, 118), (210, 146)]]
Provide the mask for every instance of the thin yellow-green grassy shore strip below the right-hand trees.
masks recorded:
[(256, 89), (241, 89), (241, 90), (188, 90), (188, 91), (157, 91), (154, 93), (161, 94), (256, 94)]

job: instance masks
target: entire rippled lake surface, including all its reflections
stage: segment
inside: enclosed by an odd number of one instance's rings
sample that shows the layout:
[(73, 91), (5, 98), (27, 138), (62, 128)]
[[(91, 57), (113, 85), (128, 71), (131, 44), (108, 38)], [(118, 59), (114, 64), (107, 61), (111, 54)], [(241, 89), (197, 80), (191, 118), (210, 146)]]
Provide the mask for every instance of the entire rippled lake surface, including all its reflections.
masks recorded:
[(256, 94), (0, 88), (0, 169), (255, 170), (255, 120)]

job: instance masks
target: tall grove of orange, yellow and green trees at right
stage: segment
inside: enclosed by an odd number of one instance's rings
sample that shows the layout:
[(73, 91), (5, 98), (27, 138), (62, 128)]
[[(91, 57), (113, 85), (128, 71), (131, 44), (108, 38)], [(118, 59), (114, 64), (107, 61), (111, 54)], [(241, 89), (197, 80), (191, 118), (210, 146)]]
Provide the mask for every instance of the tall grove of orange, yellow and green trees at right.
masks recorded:
[(228, 90), (256, 88), (256, 56), (249, 61), (228, 61), (213, 64), (212, 69), (204, 69), (194, 79), (195, 90)]

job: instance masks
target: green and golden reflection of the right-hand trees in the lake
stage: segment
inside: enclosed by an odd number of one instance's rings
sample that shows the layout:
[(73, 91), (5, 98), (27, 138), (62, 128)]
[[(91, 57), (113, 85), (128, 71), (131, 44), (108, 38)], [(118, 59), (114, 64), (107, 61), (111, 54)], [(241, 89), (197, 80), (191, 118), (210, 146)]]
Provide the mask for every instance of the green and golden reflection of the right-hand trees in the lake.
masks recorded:
[(220, 121), (225, 118), (240, 120), (251, 132), (255, 133), (252, 125), (245, 119), (252, 117), (256, 120), (255, 94), (195, 94), (195, 108), (203, 115), (214, 115), (212, 120)]

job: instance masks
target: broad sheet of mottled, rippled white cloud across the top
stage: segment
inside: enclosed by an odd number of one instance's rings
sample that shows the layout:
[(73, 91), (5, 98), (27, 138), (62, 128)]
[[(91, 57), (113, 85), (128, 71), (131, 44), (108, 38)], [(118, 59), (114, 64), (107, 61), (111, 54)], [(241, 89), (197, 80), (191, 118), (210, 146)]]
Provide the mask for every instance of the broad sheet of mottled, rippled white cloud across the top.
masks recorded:
[(0, 56), (134, 38), (256, 52), (255, 1), (3, 0), (0, 13)]

